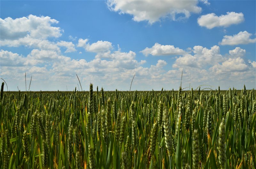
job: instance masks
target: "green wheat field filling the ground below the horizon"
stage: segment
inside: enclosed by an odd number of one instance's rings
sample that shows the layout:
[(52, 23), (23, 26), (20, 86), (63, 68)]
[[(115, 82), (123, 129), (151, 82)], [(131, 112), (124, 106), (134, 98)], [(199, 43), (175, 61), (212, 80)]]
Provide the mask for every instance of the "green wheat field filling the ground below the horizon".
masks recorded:
[(0, 168), (256, 166), (255, 90), (4, 92)]

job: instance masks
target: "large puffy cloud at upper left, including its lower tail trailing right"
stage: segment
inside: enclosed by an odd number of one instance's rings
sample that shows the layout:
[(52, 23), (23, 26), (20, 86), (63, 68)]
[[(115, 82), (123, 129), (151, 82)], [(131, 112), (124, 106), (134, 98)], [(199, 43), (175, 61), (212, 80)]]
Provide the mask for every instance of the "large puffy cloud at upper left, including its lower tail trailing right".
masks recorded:
[(62, 34), (58, 24), (59, 21), (48, 16), (34, 16), (12, 19), (10, 17), (0, 18), (1, 46), (33, 48), (43, 51), (54, 51), (60, 53), (59, 47), (65, 47), (65, 53), (76, 51), (72, 42), (53, 42), (48, 38), (58, 38)]

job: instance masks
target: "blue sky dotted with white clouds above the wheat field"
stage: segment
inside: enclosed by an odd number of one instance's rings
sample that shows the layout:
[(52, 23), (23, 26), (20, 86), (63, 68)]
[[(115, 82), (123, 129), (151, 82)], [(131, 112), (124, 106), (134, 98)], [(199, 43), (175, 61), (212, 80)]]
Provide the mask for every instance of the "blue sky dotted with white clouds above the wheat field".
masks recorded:
[[(8, 89), (256, 85), (256, 1), (1, 1)], [(80, 85), (79, 85), (80, 87)], [(204, 86), (208, 87), (208, 86)], [(204, 88), (203, 87), (203, 88)], [(28, 88), (28, 86), (27, 86)], [(77, 87), (78, 88), (78, 87)]]

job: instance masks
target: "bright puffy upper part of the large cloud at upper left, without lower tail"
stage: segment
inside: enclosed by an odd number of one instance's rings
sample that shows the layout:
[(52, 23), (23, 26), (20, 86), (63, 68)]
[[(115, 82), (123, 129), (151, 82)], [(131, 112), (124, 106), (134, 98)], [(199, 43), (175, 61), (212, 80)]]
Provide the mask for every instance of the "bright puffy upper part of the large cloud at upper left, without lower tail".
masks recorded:
[(48, 37), (60, 37), (60, 27), (53, 27), (59, 21), (50, 17), (28, 17), (12, 19), (10, 17), (0, 18), (1, 40), (17, 40), (29, 35), (31, 38), (47, 39)]

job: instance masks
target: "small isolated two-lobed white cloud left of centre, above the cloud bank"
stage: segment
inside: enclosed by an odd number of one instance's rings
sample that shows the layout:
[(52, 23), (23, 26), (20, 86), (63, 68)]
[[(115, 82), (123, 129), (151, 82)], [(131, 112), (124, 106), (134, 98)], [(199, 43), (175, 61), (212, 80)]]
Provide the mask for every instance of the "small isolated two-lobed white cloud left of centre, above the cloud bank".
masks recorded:
[(112, 49), (112, 43), (108, 41), (99, 40), (95, 43), (87, 43), (88, 39), (79, 39), (77, 47), (82, 47), (88, 52), (103, 53)]

